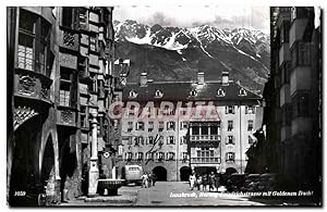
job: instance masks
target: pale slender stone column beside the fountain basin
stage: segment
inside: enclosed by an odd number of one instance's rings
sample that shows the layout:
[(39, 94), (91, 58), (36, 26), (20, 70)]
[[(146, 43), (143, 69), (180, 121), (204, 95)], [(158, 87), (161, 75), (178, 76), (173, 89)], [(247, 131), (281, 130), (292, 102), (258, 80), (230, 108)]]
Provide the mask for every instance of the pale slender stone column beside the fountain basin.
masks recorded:
[(97, 112), (92, 112), (92, 154), (88, 171), (88, 196), (97, 196), (99, 169), (98, 169), (98, 122)]

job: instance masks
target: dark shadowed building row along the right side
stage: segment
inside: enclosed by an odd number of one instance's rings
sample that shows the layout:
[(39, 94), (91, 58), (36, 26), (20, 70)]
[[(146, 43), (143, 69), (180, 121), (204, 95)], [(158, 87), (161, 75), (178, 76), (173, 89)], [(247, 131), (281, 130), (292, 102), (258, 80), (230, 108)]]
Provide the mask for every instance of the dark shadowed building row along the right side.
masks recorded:
[[(266, 137), (257, 172), (282, 174), (287, 189), (322, 186), (322, 27), (319, 9), (270, 9), (271, 71), (264, 89)], [(318, 13), (316, 13), (318, 12)], [(258, 167), (259, 166), (259, 167)]]

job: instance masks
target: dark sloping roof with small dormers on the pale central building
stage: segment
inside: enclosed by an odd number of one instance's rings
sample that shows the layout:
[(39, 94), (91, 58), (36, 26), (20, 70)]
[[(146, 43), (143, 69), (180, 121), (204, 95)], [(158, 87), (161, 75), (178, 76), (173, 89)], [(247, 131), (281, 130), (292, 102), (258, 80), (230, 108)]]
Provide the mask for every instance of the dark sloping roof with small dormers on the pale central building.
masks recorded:
[[(219, 96), (218, 90), (223, 95)], [(240, 90), (245, 90), (245, 96), (240, 96)], [(161, 92), (161, 97), (155, 97), (156, 91)], [(195, 96), (191, 91), (195, 91)], [(131, 98), (130, 92), (135, 92)], [(262, 97), (256, 95), (240, 84), (229, 82), (222, 85), (221, 82), (205, 82), (199, 85), (195, 82), (155, 82), (146, 86), (140, 86), (138, 83), (130, 83), (123, 88), (123, 101), (220, 101), (220, 100), (259, 100)]]

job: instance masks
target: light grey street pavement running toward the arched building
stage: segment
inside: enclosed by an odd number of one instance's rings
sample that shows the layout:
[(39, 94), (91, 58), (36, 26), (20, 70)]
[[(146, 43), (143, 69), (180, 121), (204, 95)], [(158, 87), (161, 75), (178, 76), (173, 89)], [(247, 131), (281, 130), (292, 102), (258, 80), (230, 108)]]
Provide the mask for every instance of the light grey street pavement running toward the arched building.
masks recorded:
[(123, 186), (116, 197), (81, 197), (61, 203), (61, 207), (239, 207), (269, 205), (250, 201), (246, 197), (231, 196), (217, 191), (191, 190), (186, 182), (157, 182), (155, 187)]

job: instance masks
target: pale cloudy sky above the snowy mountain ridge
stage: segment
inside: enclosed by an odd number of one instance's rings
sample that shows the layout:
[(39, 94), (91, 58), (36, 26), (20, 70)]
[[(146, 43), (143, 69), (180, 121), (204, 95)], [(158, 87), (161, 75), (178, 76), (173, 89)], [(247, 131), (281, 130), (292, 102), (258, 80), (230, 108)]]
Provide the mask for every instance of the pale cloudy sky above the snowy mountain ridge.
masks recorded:
[(142, 24), (193, 27), (208, 24), (217, 28), (245, 27), (269, 33), (269, 7), (220, 5), (116, 5), (113, 20)]

